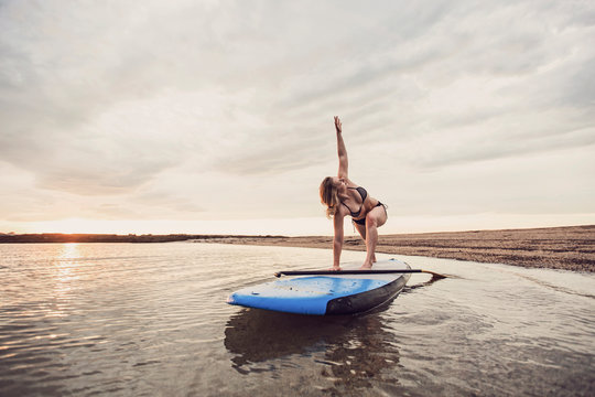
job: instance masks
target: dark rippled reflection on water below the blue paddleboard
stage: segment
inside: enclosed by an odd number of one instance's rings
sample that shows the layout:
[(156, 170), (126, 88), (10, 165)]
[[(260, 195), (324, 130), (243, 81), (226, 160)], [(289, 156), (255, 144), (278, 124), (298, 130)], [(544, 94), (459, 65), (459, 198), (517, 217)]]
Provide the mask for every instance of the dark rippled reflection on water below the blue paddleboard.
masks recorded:
[[(240, 374), (274, 372), (262, 363), (291, 355), (307, 355), (322, 364), (329, 385), (354, 389), (370, 387), (372, 377), (399, 363), (399, 352), (377, 315), (309, 316), (242, 309), (225, 330), (225, 346), (234, 353)], [(332, 391), (328, 387), (325, 390)]]

